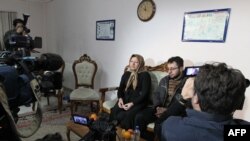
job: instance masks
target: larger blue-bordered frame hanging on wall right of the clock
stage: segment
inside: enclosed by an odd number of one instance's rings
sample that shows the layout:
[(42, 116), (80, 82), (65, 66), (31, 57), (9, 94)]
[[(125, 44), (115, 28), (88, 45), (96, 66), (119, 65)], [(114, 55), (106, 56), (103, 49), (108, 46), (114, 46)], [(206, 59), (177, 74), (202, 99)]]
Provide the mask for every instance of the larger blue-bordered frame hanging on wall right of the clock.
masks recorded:
[(186, 12), (184, 14), (183, 42), (225, 42), (230, 8)]

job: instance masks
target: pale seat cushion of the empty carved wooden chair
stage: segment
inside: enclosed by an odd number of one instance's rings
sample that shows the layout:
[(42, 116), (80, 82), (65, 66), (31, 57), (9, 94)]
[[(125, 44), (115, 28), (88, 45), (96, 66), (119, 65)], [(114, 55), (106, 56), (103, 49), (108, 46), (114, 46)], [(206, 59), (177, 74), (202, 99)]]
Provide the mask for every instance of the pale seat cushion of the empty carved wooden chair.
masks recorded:
[(70, 100), (99, 100), (100, 95), (91, 88), (79, 87), (70, 94)]

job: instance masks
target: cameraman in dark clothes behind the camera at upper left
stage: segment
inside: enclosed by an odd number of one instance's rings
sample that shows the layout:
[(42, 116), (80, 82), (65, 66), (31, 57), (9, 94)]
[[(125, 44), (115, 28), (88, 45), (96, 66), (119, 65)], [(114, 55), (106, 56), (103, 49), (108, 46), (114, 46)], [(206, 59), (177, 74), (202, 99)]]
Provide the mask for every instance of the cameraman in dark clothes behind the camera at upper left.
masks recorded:
[(15, 19), (13, 21), (13, 26), (14, 29), (7, 31), (3, 37), (5, 49), (9, 51), (14, 51), (14, 48), (12, 48), (10, 45), (11, 38), (23, 34), (24, 21), (22, 19)]

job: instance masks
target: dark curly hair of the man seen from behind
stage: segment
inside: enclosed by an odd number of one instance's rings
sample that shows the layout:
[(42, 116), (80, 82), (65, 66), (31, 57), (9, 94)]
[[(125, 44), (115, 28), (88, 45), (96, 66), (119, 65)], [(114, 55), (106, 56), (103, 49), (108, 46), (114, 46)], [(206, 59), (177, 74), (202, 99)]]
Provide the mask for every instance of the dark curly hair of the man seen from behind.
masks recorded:
[(195, 77), (194, 89), (202, 111), (231, 115), (244, 102), (246, 80), (225, 63), (205, 64)]

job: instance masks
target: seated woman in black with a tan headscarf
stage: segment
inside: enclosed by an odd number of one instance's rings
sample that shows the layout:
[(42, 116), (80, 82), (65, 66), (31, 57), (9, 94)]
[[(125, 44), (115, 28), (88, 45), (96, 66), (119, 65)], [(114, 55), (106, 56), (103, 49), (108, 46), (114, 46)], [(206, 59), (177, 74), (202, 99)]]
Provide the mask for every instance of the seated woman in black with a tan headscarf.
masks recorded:
[(111, 109), (110, 121), (117, 120), (124, 129), (133, 129), (133, 121), (137, 112), (147, 105), (151, 79), (144, 71), (144, 59), (133, 54), (129, 59), (129, 68), (121, 78), (118, 89), (118, 102)]

